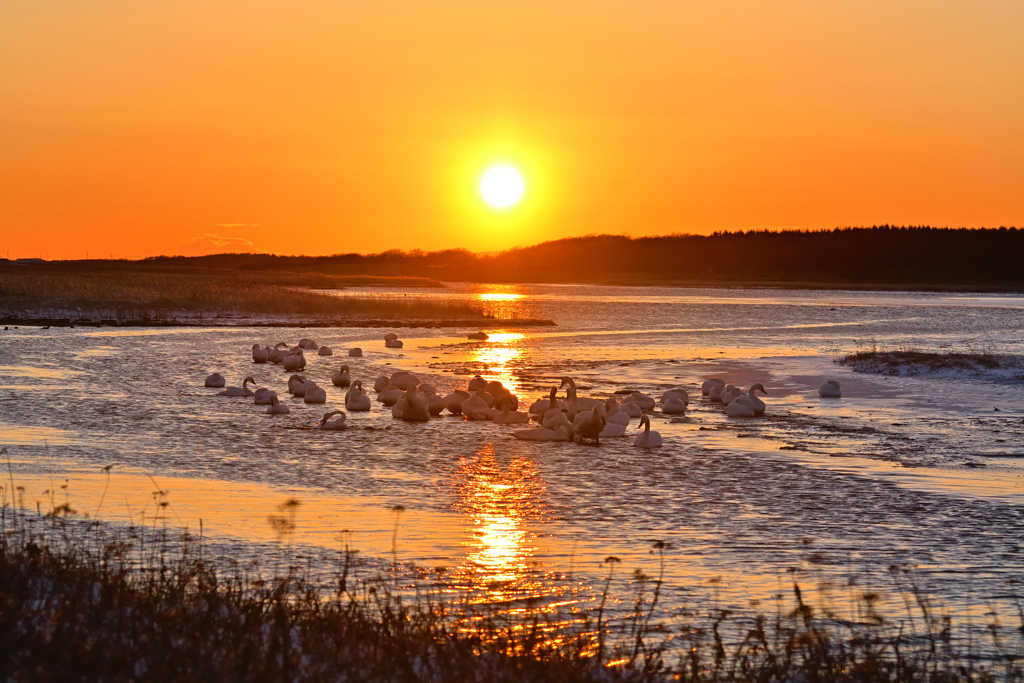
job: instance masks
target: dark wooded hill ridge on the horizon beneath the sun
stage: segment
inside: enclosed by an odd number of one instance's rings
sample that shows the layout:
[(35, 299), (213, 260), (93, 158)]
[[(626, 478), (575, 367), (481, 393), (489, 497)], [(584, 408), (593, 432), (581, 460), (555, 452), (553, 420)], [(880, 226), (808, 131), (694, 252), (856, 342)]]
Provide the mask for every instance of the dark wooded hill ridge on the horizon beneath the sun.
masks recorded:
[(889, 225), (631, 239), (591, 236), (501, 254), (221, 254), (147, 259), (153, 266), (240, 271), (419, 275), (446, 282), (851, 288), (1021, 289), (1024, 229)]

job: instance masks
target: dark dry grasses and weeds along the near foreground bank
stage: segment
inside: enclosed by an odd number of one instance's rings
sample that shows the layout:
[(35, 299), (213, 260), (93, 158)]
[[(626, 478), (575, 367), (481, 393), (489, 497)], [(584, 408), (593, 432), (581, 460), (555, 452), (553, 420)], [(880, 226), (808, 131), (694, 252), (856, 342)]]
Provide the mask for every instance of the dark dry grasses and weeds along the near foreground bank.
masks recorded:
[(770, 616), (657, 623), (660, 581), (639, 572), (631, 614), (612, 620), (610, 573), (593, 606), (557, 612), (399, 593), (388, 578), (357, 575), (347, 550), (328, 584), (295, 566), (267, 575), (216, 559), (201, 536), (118, 529), (67, 504), (31, 514), (11, 487), (0, 511), (5, 681), (1024, 680), (1024, 613), (1018, 626), (993, 617), (986, 642), (965, 643), (897, 567), (899, 624), (877, 613), (876, 594), (844, 620), (796, 584)]

